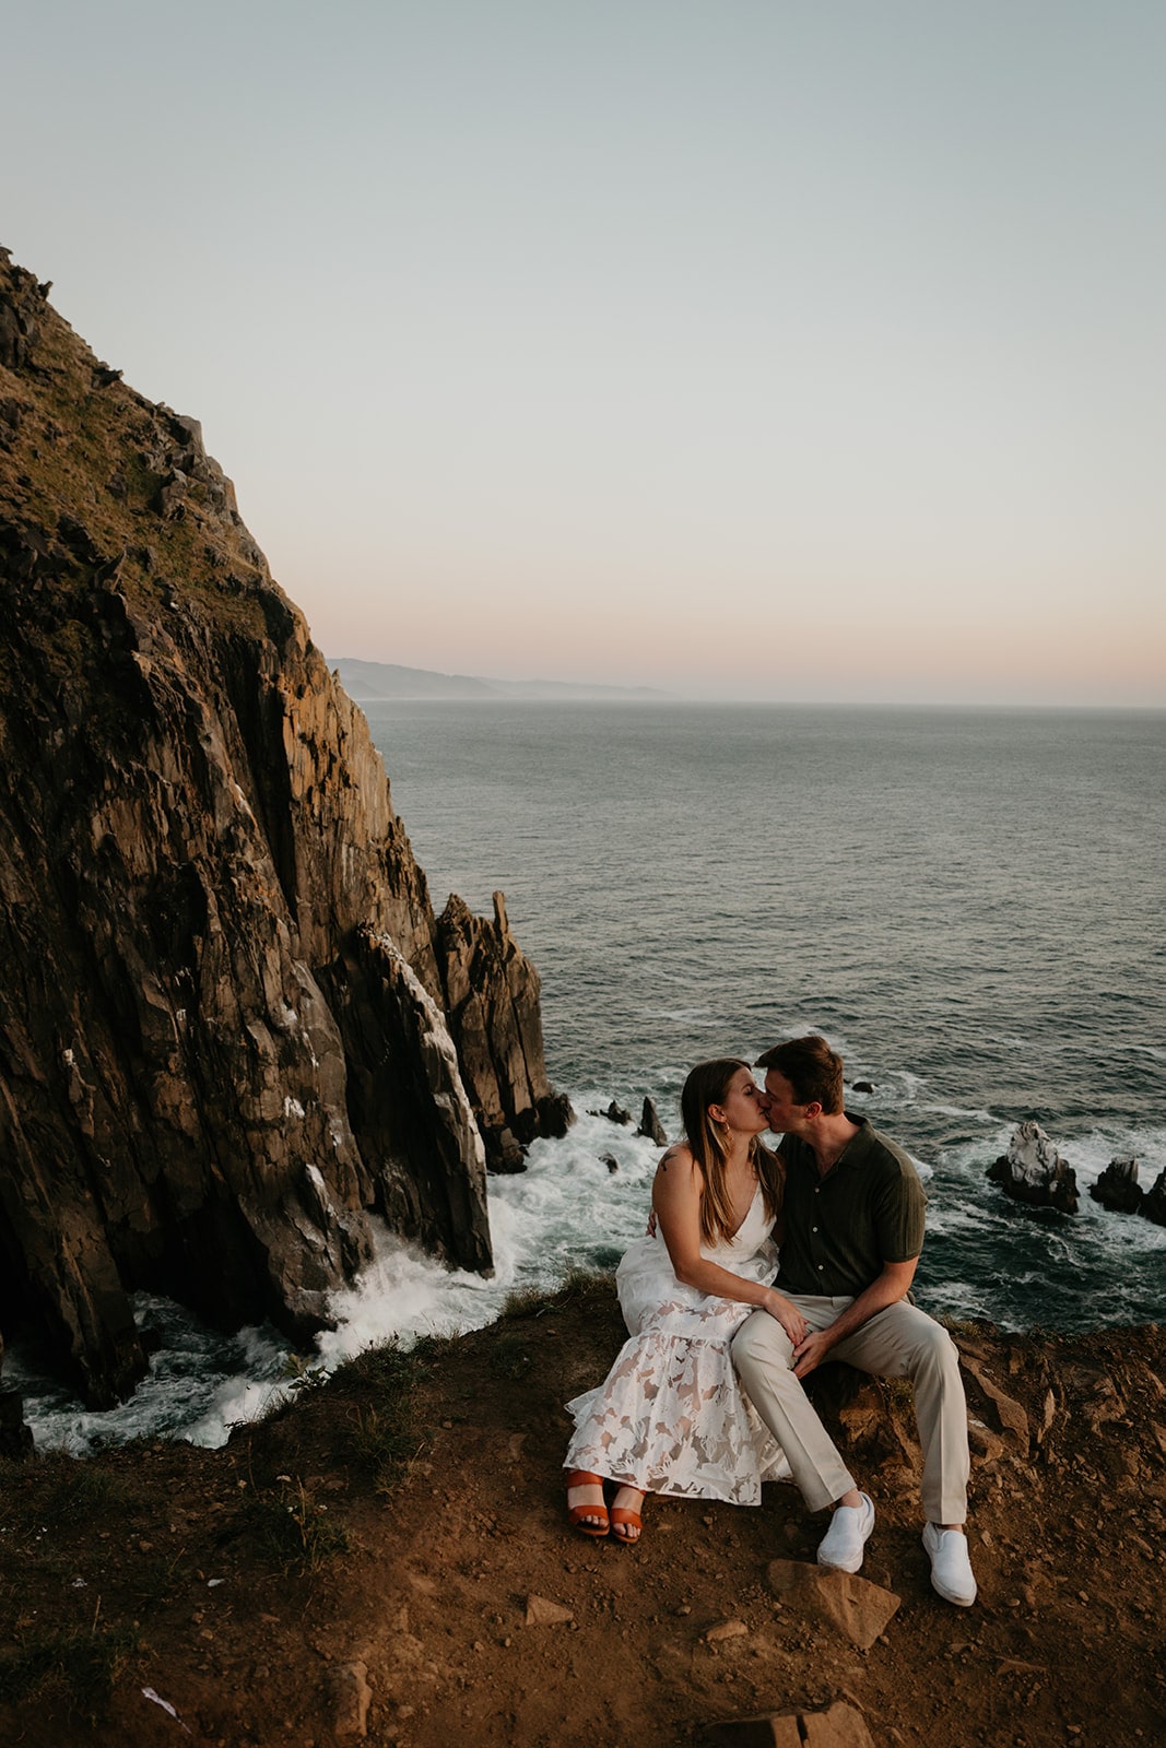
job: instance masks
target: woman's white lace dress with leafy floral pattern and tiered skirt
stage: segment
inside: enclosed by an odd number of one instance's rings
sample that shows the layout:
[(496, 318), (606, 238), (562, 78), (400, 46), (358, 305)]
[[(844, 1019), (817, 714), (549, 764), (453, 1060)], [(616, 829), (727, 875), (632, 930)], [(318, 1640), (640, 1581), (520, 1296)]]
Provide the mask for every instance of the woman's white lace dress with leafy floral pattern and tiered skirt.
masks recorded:
[[(734, 1238), (701, 1245), (701, 1255), (771, 1281), (771, 1231), (759, 1187)], [(732, 1370), (729, 1346), (755, 1308), (682, 1287), (659, 1234), (631, 1246), (615, 1287), (631, 1339), (607, 1383), (566, 1404), (575, 1433), (565, 1467), (645, 1493), (760, 1505), (762, 1481), (781, 1481), (790, 1467)]]

